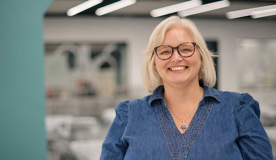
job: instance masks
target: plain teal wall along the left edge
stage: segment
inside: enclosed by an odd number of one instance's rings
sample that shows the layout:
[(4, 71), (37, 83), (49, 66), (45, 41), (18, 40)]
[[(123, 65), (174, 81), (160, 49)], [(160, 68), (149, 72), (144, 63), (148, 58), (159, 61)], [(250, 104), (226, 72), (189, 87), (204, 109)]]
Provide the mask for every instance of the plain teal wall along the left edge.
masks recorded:
[(1, 160), (47, 159), (43, 21), (50, 2), (0, 2)]

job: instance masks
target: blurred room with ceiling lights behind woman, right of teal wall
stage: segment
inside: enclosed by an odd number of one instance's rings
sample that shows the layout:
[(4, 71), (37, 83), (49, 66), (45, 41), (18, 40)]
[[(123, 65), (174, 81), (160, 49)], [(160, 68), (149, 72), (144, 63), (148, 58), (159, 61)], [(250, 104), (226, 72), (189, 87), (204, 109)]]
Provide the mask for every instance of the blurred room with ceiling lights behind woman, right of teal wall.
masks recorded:
[(249, 93), (259, 102), (276, 159), (275, 0), (52, 0), (41, 5), (46, 8), (39, 26), (44, 51), (37, 65), (44, 81), (46, 159), (99, 159), (116, 105), (151, 94), (142, 83), (142, 53), (153, 29), (171, 14), (193, 20), (209, 49), (220, 54), (214, 59), (214, 88)]

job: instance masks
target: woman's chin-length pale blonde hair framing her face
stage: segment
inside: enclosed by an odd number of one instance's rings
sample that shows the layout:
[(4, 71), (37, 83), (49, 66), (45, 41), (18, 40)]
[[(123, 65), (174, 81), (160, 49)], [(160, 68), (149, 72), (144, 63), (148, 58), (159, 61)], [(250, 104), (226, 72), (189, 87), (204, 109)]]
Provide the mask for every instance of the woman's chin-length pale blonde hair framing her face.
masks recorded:
[(203, 64), (198, 73), (198, 80), (203, 81), (204, 85), (213, 87), (217, 79), (213, 57), (218, 55), (208, 50), (206, 42), (194, 22), (175, 15), (163, 20), (155, 27), (149, 38), (147, 49), (143, 52), (142, 78), (145, 88), (148, 92), (153, 92), (159, 85), (163, 85), (162, 78), (158, 72), (154, 71), (154, 47), (162, 45), (165, 33), (175, 27), (186, 29), (194, 42), (199, 45)]

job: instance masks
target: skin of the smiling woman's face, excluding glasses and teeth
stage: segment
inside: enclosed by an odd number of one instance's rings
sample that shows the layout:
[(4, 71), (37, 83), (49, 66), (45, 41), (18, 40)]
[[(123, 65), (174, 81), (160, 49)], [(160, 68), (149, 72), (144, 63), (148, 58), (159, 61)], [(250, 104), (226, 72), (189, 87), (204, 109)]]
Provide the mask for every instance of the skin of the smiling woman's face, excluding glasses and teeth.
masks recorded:
[[(162, 45), (177, 47), (185, 42), (194, 41), (185, 29), (172, 28), (166, 32)], [(164, 84), (190, 84), (191, 82), (198, 81), (198, 72), (201, 67), (202, 59), (197, 46), (195, 46), (194, 54), (190, 57), (180, 56), (177, 49), (173, 50), (173, 55), (168, 60), (160, 60), (156, 56), (156, 53), (154, 55), (154, 67), (163, 79)], [(185, 66), (186, 69), (182, 71), (170, 70), (172, 67), (182, 67), (183, 69)]]

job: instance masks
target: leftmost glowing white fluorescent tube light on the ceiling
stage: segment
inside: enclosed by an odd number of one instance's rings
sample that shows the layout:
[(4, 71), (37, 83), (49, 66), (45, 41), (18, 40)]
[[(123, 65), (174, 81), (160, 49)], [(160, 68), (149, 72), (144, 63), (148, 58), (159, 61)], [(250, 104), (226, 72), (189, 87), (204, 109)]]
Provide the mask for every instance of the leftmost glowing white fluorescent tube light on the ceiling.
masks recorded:
[(89, 0), (86, 2), (83, 2), (79, 5), (76, 5), (73, 8), (68, 9), (67, 16), (74, 16), (75, 14), (78, 14), (88, 8), (93, 7), (94, 5), (97, 5), (99, 3), (102, 3), (103, 0)]

